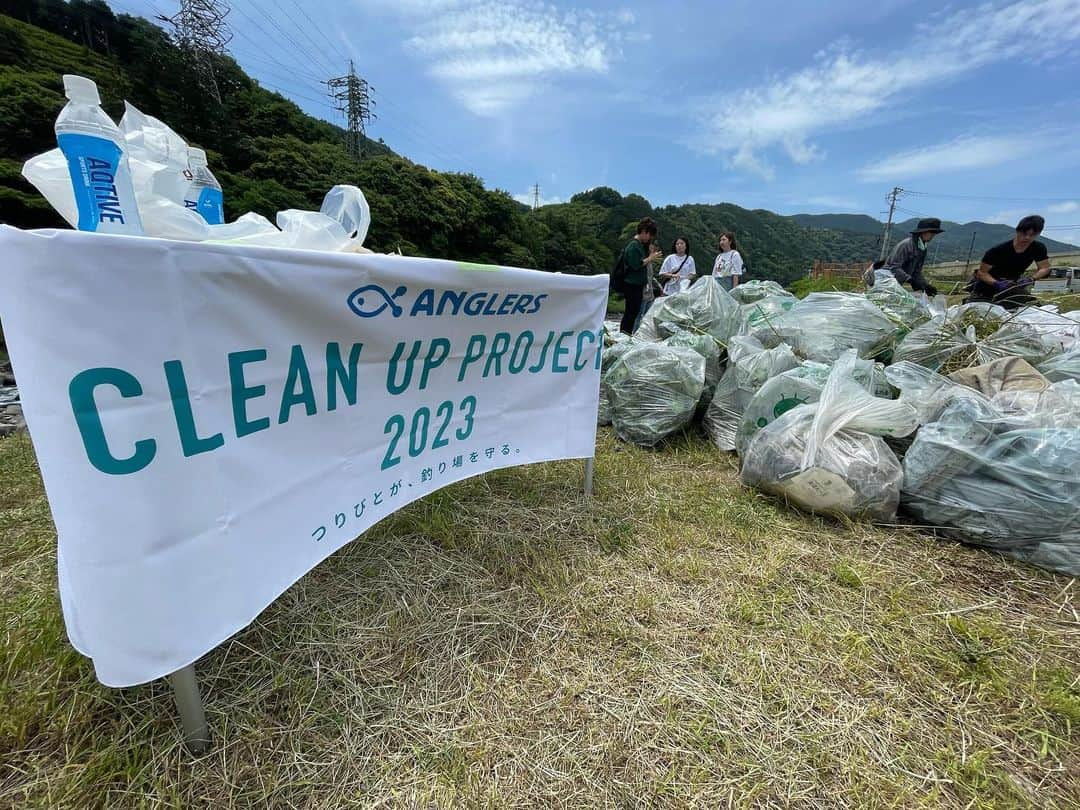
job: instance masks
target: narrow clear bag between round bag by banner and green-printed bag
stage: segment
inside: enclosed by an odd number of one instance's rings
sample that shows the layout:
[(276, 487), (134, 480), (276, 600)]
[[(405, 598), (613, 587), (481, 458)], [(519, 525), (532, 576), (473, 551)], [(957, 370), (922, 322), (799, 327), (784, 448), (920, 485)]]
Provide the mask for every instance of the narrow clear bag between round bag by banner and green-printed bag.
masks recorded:
[(735, 432), (754, 394), (772, 377), (799, 364), (786, 343), (766, 349), (751, 337), (734, 337), (728, 366), (705, 410), (702, 427), (721, 450), (735, 449)]

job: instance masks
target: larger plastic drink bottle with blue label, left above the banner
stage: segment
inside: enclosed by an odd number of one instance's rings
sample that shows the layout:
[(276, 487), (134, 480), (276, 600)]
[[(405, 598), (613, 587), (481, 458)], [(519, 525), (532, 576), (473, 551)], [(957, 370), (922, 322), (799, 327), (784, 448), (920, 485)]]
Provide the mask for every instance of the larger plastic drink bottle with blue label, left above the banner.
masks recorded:
[(56, 119), (56, 143), (67, 159), (79, 208), (79, 230), (143, 233), (123, 135), (105, 110), (97, 85), (64, 77), (68, 103)]

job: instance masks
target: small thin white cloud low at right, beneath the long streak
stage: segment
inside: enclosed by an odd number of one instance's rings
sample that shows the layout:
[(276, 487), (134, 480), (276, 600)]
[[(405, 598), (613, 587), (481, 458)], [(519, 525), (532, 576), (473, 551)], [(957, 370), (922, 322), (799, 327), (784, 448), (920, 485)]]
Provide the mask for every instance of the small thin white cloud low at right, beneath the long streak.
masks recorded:
[(1057, 140), (1048, 133), (963, 136), (882, 158), (860, 168), (859, 178), (904, 183), (912, 177), (989, 168), (1027, 160), (1032, 151), (1050, 149)]

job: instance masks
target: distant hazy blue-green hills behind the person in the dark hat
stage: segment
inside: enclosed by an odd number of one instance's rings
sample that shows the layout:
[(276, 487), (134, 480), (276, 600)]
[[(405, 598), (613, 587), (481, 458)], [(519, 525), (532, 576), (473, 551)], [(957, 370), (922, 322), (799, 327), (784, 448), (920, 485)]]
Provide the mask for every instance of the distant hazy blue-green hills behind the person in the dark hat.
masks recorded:
[[(874, 235), (875, 238), (880, 237), (885, 231), (885, 222), (865, 214), (795, 214), (788, 218), (801, 226), (816, 230), (845, 231), (862, 235)], [(892, 243), (895, 244), (897, 239), (906, 235), (918, 221), (918, 218), (913, 217), (901, 222), (894, 222), (892, 228)], [(1012, 239), (1015, 232), (1012, 225), (981, 221), (961, 224), (944, 220), (942, 228), (945, 229), (945, 232), (934, 239), (931, 247), (934, 260), (936, 261), (967, 258), (971, 246), (972, 231), (975, 233), (975, 247), (972, 253), (980, 256), (987, 248)], [(1045, 237), (1040, 237), (1039, 241), (1047, 245), (1047, 249), (1051, 253), (1072, 253), (1077, 249), (1076, 245), (1047, 239)]]

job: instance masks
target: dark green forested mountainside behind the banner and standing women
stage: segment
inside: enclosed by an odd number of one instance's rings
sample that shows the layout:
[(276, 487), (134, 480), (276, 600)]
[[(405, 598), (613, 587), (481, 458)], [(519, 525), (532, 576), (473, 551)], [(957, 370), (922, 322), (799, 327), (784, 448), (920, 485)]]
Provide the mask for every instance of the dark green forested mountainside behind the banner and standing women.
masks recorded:
[[(273, 218), (283, 208), (318, 208), (327, 189), (348, 183), (370, 203), (366, 244), (376, 251), (599, 273), (615, 264), (632, 224), (652, 216), (665, 252), (677, 234), (689, 238), (699, 271), (711, 270), (724, 230), (738, 234), (752, 275), (783, 283), (804, 275), (814, 259), (864, 261), (876, 254), (881, 226), (870, 217), (860, 218), (874, 224), (862, 232), (823, 230), (821, 221), (732, 204), (653, 208), (638, 194), (603, 187), (532, 212), (478, 177), (431, 171), (381, 141), (367, 140), (364, 160), (354, 161), (340, 127), (261, 87), (230, 57), (215, 60), (217, 105), (198, 90), (168, 35), (114, 14), (102, 0), (4, 0), (0, 8), (0, 221), (22, 228), (62, 225), (21, 170), (55, 146), (60, 77), (75, 72), (98, 83), (116, 119), (127, 99), (205, 148), (229, 219), (247, 211)], [(835, 225), (848, 222), (839, 216)]]

